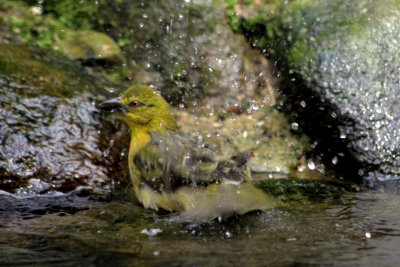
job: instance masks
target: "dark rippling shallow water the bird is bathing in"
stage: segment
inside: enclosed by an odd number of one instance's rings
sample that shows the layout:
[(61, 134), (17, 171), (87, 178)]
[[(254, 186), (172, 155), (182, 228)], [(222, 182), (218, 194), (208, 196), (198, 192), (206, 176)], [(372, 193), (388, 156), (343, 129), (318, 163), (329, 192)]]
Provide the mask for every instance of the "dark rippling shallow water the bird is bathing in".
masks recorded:
[[(400, 196), (300, 198), (227, 221), (176, 223), (136, 202), (0, 199), (0, 266), (397, 266)], [(141, 233), (161, 232), (151, 236)]]

